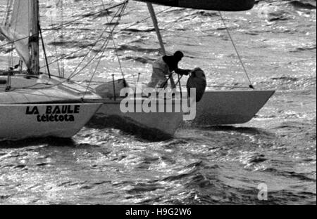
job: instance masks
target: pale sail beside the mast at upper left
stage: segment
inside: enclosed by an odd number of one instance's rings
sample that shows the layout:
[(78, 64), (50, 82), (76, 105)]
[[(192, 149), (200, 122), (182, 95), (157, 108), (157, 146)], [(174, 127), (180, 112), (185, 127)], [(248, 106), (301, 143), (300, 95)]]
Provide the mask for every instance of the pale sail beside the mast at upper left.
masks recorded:
[(15, 50), (28, 68), (30, 68), (30, 1), (32, 0), (15, 0), (11, 19), (0, 27), (0, 34), (8, 41), (14, 41)]

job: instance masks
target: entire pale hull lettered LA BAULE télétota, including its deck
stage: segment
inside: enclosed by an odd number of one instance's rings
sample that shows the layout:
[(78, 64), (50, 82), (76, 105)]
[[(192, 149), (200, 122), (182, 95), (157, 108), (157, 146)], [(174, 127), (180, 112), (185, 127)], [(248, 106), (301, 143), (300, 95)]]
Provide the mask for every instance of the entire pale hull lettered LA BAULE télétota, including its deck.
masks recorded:
[(65, 79), (18, 74), (0, 81), (0, 140), (70, 138), (101, 107), (99, 95)]

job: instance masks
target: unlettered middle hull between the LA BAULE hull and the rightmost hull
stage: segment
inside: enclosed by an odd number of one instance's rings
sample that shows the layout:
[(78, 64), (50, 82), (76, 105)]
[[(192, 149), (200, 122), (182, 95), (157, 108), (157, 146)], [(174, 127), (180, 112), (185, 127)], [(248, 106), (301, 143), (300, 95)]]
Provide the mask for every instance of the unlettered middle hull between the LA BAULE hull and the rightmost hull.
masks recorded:
[[(107, 127), (120, 128), (135, 134), (151, 135), (158, 138), (170, 138), (182, 123), (182, 112), (144, 112), (142, 105), (146, 98), (135, 102), (134, 112), (122, 112), (120, 102), (123, 99), (104, 99), (104, 104), (94, 115), (92, 122)], [(156, 102), (159, 105), (159, 102)], [(165, 104), (165, 108), (166, 108)], [(172, 103), (173, 105), (173, 103)], [(159, 106), (158, 106), (159, 107)], [(157, 109), (158, 109), (157, 107)], [(175, 107), (175, 105), (173, 105)], [(141, 109), (137, 112), (137, 108)]]

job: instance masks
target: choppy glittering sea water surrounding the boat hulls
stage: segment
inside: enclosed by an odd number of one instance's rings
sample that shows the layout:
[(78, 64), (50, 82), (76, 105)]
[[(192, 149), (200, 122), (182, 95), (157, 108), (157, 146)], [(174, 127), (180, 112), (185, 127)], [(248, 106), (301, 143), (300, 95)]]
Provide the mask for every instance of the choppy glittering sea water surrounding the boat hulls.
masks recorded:
[[(61, 1), (41, 3), (49, 60), (86, 48), (59, 63), (73, 72), (116, 21), (116, 8), (93, 13), (118, 2), (68, 0), (63, 9)], [(5, 1), (0, 5), (2, 17)], [(209, 86), (249, 85), (218, 13), (155, 10), (167, 50), (186, 55), (180, 67), (201, 67)], [(251, 11), (222, 14), (254, 86), (277, 91), (254, 119), (183, 124), (175, 138), (161, 142), (108, 127), (85, 127), (70, 140), (0, 142), (0, 204), (316, 204), (316, 1), (259, 1)], [(159, 55), (154, 28), (151, 20), (130, 27), (148, 16), (144, 4), (130, 1), (118, 26), (125, 30), (113, 36), (95, 81), (120, 77), (113, 48), (131, 84), (137, 73), (149, 80)], [(3, 68), (9, 50), (0, 47)], [(89, 79), (97, 58), (77, 79)], [(268, 201), (258, 199), (261, 183)]]

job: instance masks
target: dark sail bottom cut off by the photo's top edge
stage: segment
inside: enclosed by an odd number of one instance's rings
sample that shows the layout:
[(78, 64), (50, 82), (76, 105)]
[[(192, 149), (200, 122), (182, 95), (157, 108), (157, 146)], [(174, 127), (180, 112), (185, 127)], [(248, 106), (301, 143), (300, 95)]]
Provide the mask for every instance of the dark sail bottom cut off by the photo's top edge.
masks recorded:
[(180, 8), (194, 8), (212, 11), (247, 11), (254, 6), (254, 0), (135, 0)]

